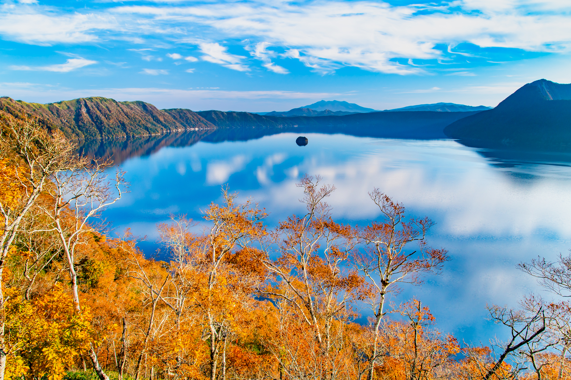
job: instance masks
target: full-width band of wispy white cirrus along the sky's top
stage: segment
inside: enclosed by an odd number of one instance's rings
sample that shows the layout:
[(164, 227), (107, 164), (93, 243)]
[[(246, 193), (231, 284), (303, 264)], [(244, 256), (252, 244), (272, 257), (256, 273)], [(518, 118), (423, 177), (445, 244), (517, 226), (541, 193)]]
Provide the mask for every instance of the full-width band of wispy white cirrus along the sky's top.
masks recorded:
[[(111, 2), (99, 10), (73, 12), (38, 4), (4, 4), (1, 10), (0, 34), (13, 41), (53, 45), (147, 39), (166, 46), (194, 34), (202, 38), (192, 45), (199, 47), (204, 61), (237, 71), (251, 71), (248, 61), (258, 60), (267, 70), (287, 73), (270, 59), (274, 57), (296, 59), (320, 74), (345, 66), (425, 74), (438, 69), (423, 65), (427, 60), (441, 65), (467, 58), (502, 61), (460, 49), (460, 43), (544, 53), (571, 51), (571, 3), (561, 0), (457, 0), (403, 6), (371, 0), (203, 4), (180, 0), (147, 5)], [(251, 57), (230, 54), (226, 39), (248, 39), (256, 48)], [(275, 56), (275, 50), (284, 53)], [(160, 57), (142, 54), (142, 58)]]

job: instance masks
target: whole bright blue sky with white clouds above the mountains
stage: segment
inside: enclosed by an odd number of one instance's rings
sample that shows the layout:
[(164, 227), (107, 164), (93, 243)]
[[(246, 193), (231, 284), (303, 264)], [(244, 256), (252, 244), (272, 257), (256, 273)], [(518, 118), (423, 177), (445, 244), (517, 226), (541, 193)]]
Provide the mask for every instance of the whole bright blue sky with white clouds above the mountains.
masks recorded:
[(0, 95), (159, 108), (495, 106), (571, 82), (568, 0), (0, 3)]

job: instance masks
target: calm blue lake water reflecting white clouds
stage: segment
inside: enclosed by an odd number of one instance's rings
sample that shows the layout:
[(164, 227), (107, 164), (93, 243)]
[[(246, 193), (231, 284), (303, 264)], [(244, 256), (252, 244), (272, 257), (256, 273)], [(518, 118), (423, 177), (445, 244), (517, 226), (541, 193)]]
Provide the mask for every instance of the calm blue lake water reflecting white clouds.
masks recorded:
[[(415, 296), (431, 307), (439, 329), (488, 343), (505, 331), (486, 321), (486, 303), (516, 306), (537, 292), (533, 278), (515, 268), (537, 255), (554, 259), (571, 248), (571, 158), (564, 154), (483, 151), (452, 140), (405, 140), (282, 133), (248, 141), (198, 142), (155, 149), (120, 166), (131, 192), (105, 217), (118, 231), (147, 235), (156, 245), (156, 223), (187, 214), (199, 220), (228, 183), (252, 197), (276, 223), (304, 207), (295, 183), (319, 174), (337, 190), (328, 203), (339, 221), (364, 225), (379, 217), (367, 193), (374, 187), (404, 203), (411, 215), (432, 218), (432, 246), (452, 260), (421, 287), (405, 287), (395, 302)], [(546, 297), (550, 296), (546, 294)], [(365, 311), (364, 311), (365, 313)], [(491, 332), (491, 333), (490, 333)]]

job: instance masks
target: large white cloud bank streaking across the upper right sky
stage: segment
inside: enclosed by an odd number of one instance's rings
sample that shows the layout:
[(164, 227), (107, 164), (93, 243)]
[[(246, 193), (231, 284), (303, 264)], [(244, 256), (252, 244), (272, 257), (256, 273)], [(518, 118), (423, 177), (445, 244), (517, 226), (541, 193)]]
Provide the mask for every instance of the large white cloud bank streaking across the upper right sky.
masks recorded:
[(188, 25), (202, 23), (218, 30), (222, 38), (247, 38), (283, 47), (300, 53), (289, 57), (322, 74), (343, 66), (383, 73), (423, 73), (427, 69), (394, 59), (443, 58), (443, 53), (434, 49), (436, 44), (448, 45), (451, 54), (463, 57), (472, 54), (455, 49), (461, 42), (531, 51), (568, 51), (571, 47), (571, 25), (566, 15), (571, 10), (569, 3), (496, 3), (457, 0), (439, 6), (392, 6), (373, 1), (278, 0), (123, 6), (115, 11), (154, 20), (184, 20)]

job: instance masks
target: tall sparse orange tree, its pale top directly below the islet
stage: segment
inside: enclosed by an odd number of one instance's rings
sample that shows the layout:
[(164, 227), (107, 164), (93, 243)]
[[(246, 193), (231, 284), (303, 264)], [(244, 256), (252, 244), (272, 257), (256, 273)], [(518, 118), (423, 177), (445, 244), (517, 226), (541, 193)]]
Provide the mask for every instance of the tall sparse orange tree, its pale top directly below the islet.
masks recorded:
[(282, 371), (298, 379), (335, 379), (347, 368), (345, 325), (356, 317), (351, 302), (362, 297), (363, 278), (348, 269), (357, 230), (333, 221), (324, 199), (335, 187), (320, 182), (319, 176), (300, 179), (307, 213), (280, 222), (260, 255), (272, 274), (260, 294), (280, 313), (269, 346)]

